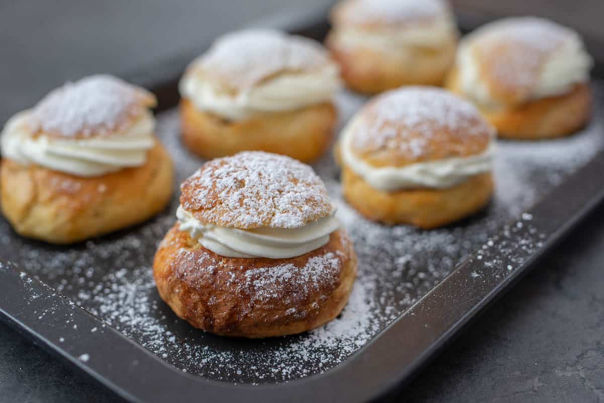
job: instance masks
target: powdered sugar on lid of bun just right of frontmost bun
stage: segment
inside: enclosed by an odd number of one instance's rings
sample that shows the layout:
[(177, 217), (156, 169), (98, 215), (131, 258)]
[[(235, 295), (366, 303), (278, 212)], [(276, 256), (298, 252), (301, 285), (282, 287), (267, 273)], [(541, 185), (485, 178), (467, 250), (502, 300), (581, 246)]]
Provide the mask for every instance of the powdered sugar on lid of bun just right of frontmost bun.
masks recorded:
[(434, 87), (385, 92), (359, 115), (352, 134), (352, 145), (359, 151), (399, 150), (421, 157), (432, 153), (435, 136), (444, 132), (484, 136), (487, 141), (494, 134), (471, 103)]

